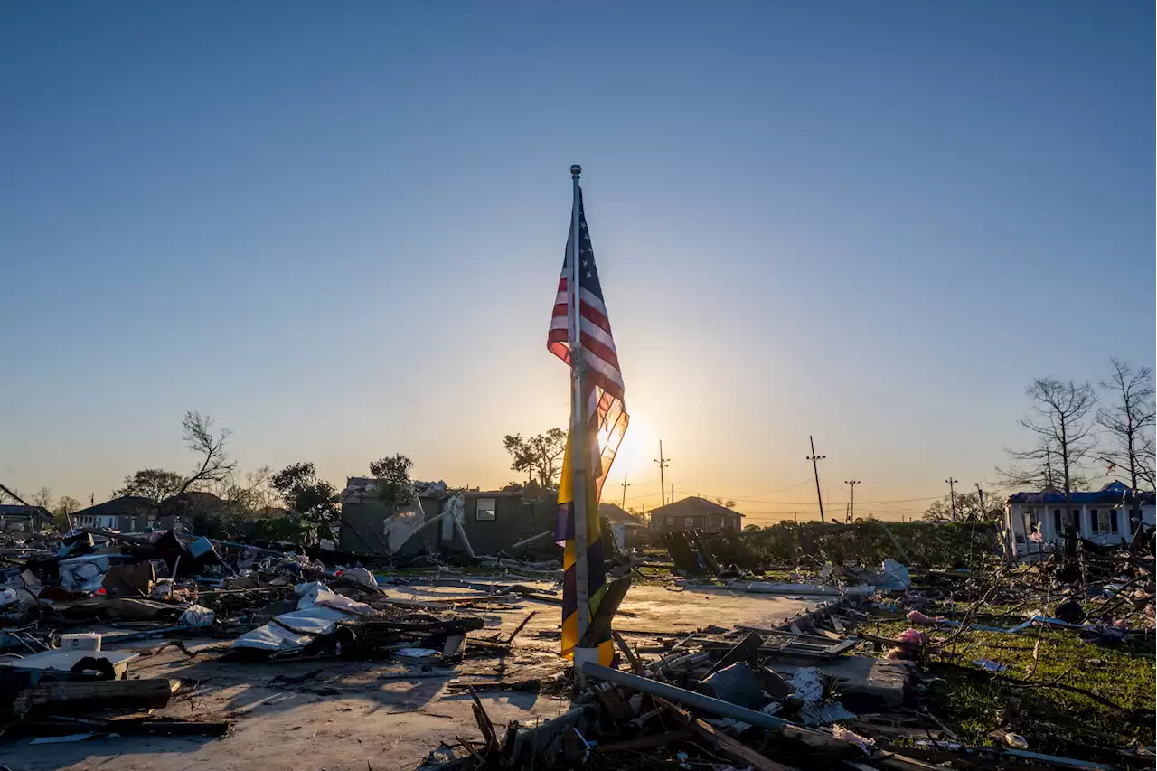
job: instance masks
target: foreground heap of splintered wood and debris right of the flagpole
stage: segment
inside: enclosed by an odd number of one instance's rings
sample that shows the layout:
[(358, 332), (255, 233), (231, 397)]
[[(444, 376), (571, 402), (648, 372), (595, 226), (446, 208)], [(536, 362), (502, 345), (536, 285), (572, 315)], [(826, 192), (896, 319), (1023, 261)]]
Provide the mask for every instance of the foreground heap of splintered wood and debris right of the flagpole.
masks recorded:
[[(691, 534), (687, 543), (697, 544), (701, 558), (701, 534)], [(677, 561), (678, 551), (671, 550)], [(1036, 656), (1051, 633), (1097, 645), (1145, 641), (1148, 647), (1133, 654), (1144, 656), (1138, 666), (1151, 671), (1157, 564), (1123, 551), (1083, 560), (1075, 573), (1063, 559), (982, 572), (909, 571), (894, 560), (878, 571), (828, 566), (825, 574), (840, 583), (839, 601), (789, 627), (707, 627), (653, 659), (616, 634), (618, 668), (581, 664), (569, 712), (538, 726), (495, 727), (476, 702), (481, 739), (439, 748), (423, 769), (1155, 769), (1157, 711), (1121, 705), (1070, 682), (1034, 681), (1031, 668), (1016, 677), (975, 653), (978, 640), (994, 633), (1036, 637)], [(1091, 573), (1099, 580), (1063, 582)], [(856, 579), (871, 585), (849, 592), (856, 587), (845, 581)], [(771, 586), (799, 592), (797, 585)], [(1051, 597), (1052, 610), (1042, 611)], [(1086, 612), (1078, 600), (1095, 600), (1097, 611)], [(1016, 624), (980, 623), (987, 621), (986, 607), (1000, 604), (1007, 612), (1016, 602), (1034, 609)], [(1031, 638), (1026, 647), (1033, 649)], [(948, 683), (945, 667), (971, 678), (971, 685), (953, 688), (988, 683), (1001, 695), (1003, 706), (986, 733), (968, 733), (975, 715), (939, 710), (934, 695)], [(1025, 705), (1034, 693), (1052, 692), (1110, 710), (1133, 739), (1113, 746), (1107, 737), (1090, 741), (1089, 730), (1077, 729), (1079, 741), (1048, 734), (1063, 729), (1034, 718)]]

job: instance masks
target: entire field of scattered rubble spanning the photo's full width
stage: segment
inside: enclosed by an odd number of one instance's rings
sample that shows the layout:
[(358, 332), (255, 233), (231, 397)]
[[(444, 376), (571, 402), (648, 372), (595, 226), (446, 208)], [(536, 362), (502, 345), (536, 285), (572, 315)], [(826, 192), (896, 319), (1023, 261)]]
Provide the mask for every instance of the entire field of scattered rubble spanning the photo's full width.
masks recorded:
[[(1126, 656), (1154, 667), (1154, 559), (1078, 546), (1011, 564), (993, 550), (966, 570), (915, 567), (896, 558), (920, 557), (911, 541), (880, 538), (894, 556), (868, 565), (784, 568), (734, 531), (668, 536), (670, 563), (619, 553), (609, 568), (620, 593), (642, 575), (715, 603), (720, 593), (790, 599), (799, 612), (734, 627), (672, 612), (670, 625), (648, 629), (624, 609), (616, 666), (573, 671), (553, 655), (553, 561), (481, 556), (477, 568), (489, 575), (436, 563), (417, 574), (382, 570), (374, 556), (179, 533), (31, 536), (5, 544), (0, 570), (0, 704), (12, 705), (2, 736), (227, 735), (238, 715), (174, 712), (212, 682), (149, 671), (153, 656), (177, 647), (198, 661), (271, 668), (267, 688), (323, 698), (333, 692), (326, 667), (340, 662), (363, 662), (383, 681), (433, 681), (444, 698), (470, 699), (480, 735), (459, 730), (432, 752), (427, 766), (441, 771), (1157, 768), (1151, 678), (1125, 698), (1071, 671), (1046, 674), (1059, 645), (1085, 646), (1074, 651), (1090, 671)], [(679, 608), (679, 595), (654, 592)], [(496, 631), (503, 616), (509, 624)], [(316, 668), (286, 669), (295, 661)], [(952, 707), (958, 691), (996, 706), (968, 717)], [(555, 698), (560, 713), (495, 725), (484, 703), (494, 692)], [(1061, 714), (1042, 712), (1051, 696), (1123, 728), (1064, 727)]]

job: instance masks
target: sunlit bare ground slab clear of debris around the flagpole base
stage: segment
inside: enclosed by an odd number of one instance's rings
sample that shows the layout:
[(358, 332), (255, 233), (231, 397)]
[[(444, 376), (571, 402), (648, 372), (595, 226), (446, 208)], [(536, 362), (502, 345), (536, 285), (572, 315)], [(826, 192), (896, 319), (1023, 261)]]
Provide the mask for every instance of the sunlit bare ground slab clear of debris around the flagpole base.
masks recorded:
[[(388, 594), (421, 601), (474, 593), (450, 587), (389, 587)], [(629, 630), (686, 634), (712, 624), (772, 626), (813, 609), (817, 600), (639, 586), (627, 595), (617, 627), (629, 637)], [(419, 671), (395, 660), (230, 663), (216, 661), (216, 654), (189, 659), (169, 648), (131, 664), (130, 677), (199, 681), (191, 698), (178, 697), (159, 712), (184, 719), (234, 720), (227, 736), (94, 737), (36, 746), (23, 739), (0, 744), (0, 764), (12, 771), (412, 769), (440, 743), (452, 743), (456, 736), (473, 739), (478, 733), (470, 696), (449, 692), (445, 685), (450, 678), (493, 678), (501, 666), (507, 678), (521, 680), (550, 675), (565, 666), (557, 655), (559, 605), (518, 600), (501, 609), (492, 605), (465, 612), (486, 619), (485, 634), (491, 630), (511, 632), (531, 610), (538, 614), (518, 636), (514, 655), (504, 661), (467, 659), (456, 674)], [(148, 649), (159, 644), (141, 640), (135, 645)], [(220, 641), (190, 640), (186, 645), (196, 649), (197, 645)], [(510, 720), (533, 725), (568, 707), (567, 700), (545, 693), (481, 693), (480, 698), (495, 725)]]

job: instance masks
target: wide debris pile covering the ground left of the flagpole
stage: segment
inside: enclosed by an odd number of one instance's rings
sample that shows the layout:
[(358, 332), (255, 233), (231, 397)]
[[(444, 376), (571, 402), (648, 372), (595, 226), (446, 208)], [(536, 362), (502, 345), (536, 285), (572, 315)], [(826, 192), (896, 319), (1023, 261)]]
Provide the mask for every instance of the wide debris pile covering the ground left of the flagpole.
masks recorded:
[[(137, 678), (134, 667), (150, 666), (141, 662), (170, 646), (226, 662), (390, 659), (449, 678), (464, 659), (509, 654), (522, 630), (478, 634), (484, 619), (471, 608), (510, 610), (528, 595), (555, 600), (541, 587), (476, 585), (442, 577), (442, 570), (429, 579), (382, 578), (481, 589), (466, 597), (406, 600), (386, 594), (378, 575), (348, 555), (179, 533), (81, 530), (3, 549), (0, 705), (13, 706), (0, 707), (10, 712), (0, 735), (39, 742), (224, 734), (228, 721), (154, 713), (200, 686)], [(167, 639), (149, 649), (152, 638)], [(194, 639), (201, 644), (186, 647)]]

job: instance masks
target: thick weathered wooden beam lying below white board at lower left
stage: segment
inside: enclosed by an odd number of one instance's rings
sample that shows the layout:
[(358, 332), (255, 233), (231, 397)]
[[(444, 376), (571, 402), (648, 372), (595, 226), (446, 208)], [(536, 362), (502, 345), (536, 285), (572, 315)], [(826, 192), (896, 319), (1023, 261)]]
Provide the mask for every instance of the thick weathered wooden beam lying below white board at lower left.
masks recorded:
[(13, 708), (20, 714), (69, 714), (91, 710), (155, 710), (180, 690), (179, 680), (103, 680), (40, 683), (21, 691)]

